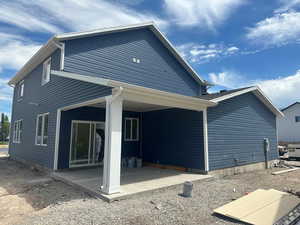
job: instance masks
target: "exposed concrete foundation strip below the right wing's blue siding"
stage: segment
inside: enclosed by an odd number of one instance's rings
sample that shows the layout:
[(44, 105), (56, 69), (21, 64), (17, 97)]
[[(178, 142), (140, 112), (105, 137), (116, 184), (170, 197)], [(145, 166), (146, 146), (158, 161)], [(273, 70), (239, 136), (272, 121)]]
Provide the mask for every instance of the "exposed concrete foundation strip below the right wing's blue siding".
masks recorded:
[[(276, 160), (271, 160), (268, 162), (268, 167), (272, 168), (273, 164)], [(251, 171), (257, 171), (257, 170), (264, 170), (266, 169), (266, 163), (265, 162), (259, 162), (259, 163), (252, 163), (247, 164), (243, 166), (236, 166), (236, 167), (230, 167), (230, 168), (224, 168), (219, 170), (213, 170), (209, 171), (209, 175), (214, 176), (231, 176), (235, 174), (241, 174), (241, 173), (247, 173)]]

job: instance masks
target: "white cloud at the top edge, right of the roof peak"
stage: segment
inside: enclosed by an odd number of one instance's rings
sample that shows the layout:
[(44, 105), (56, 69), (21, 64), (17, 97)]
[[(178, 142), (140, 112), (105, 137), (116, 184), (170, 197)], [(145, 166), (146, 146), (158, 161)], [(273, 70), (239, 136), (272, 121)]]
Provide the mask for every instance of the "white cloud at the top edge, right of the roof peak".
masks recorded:
[(215, 30), (245, 3), (245, 0), (165, 0), (165, 8), (179, 26), (201, 26)]

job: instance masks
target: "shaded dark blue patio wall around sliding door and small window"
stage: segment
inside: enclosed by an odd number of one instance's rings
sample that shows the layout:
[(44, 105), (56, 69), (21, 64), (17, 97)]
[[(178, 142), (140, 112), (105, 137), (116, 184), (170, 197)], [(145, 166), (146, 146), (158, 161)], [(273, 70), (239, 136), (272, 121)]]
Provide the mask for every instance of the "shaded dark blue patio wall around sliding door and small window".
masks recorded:
[[(123, 112), (123, 126), (122, 126), (122, 157), (139, 156), (139, 141), (124, 141), (124, 118), (135, 117), (139, 118), (137, 112)], [(60, 140), (59, 140), (59, 157), (58, 169), (69, 168), (69, 153), (71, 141), (71, 124), (72, 120), (85, 121), (102, 121), (105, 122), (105, 109), (95, 107), (81, 107), (78, 109), (68, 110), (62, 112), (61, 126), (60, 126)]]

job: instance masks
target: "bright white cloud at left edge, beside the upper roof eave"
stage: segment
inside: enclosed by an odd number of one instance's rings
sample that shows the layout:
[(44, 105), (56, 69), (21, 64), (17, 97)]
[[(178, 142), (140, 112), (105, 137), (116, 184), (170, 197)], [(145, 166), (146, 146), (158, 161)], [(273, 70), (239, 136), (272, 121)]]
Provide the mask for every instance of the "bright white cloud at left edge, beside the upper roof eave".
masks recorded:
[(22, 36), (0, 33), (0, 72), (19, 69), (41, 47)]

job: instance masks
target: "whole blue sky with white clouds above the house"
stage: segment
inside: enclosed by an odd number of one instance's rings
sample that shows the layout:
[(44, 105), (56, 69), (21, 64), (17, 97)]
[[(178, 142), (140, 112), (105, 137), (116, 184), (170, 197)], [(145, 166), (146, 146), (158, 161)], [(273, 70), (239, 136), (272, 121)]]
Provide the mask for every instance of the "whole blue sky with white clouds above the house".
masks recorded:
[(258, 85), (300, 100), (300, 0), (12, 0), (0, 5), (0, 112), (6, 83), (54, 34), (154, 21), (211, 91)]

